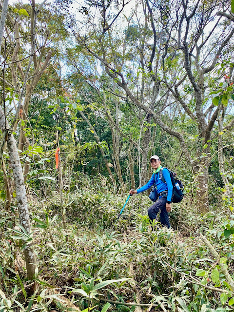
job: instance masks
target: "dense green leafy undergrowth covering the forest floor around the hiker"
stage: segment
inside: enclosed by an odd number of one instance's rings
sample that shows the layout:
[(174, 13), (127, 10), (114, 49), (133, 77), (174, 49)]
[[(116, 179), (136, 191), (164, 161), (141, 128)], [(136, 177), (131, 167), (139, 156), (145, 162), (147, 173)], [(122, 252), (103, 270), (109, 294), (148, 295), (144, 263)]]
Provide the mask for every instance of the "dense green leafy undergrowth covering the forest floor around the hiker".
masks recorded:
[(234, 276), (234, 216), (226, 218), (221, 209), (201, 216), (188, 197), (173, 205), (173, 230), (152, 228), (144, 195), (131, 197), (117, 221), (126, 198), (89, 184), (64, 193), (67, 230), (56, 190), (47, 201), (34, 199), (29, 209), (39, 271), (33, 292), (27, 286), (17, 211), (7, 214), (1, 208), (0, 311), (133, 312), (137, 303), (155, 311), (234, 310), (234, 292), (221, 268)]

